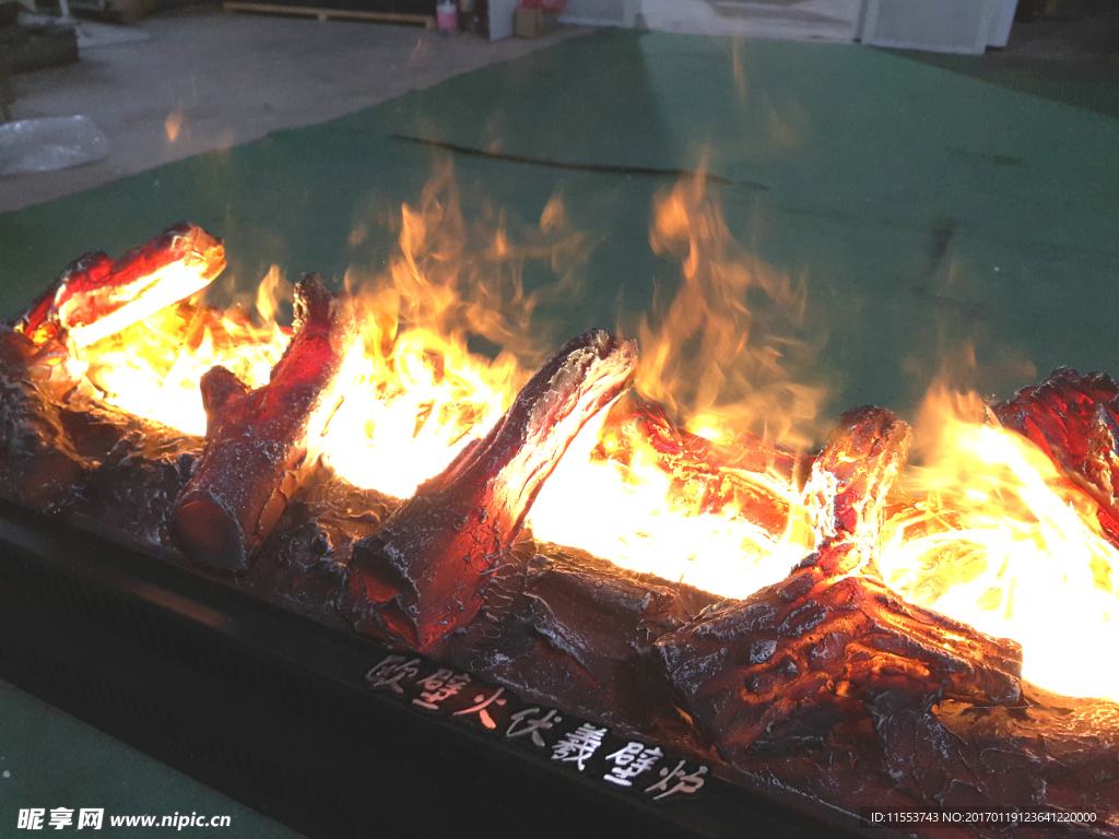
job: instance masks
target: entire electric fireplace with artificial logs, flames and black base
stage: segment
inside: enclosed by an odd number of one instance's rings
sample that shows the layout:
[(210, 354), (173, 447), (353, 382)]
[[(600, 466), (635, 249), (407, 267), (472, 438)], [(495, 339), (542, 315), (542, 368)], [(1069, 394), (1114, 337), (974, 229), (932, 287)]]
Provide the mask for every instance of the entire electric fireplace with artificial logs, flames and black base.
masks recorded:
[(407, 210), (291, 328), (276, 273), (203, 302), (194, 225), (74, 262), (0, 336), (3, 675), (311, 835), (1119, 835), (1119, 384), (684, 422), (696, 284), (796, 298), (695, 206), (668, 326), (535, 371), (467, 351)]

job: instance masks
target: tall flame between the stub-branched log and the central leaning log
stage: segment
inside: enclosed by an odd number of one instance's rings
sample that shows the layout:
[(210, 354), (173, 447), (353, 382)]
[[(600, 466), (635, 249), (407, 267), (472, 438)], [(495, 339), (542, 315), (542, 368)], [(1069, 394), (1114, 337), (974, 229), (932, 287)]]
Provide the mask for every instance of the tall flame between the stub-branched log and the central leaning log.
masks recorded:
[[(470, 229), (443, 170), (419, 207), (404, 206), (387, 270), (350, 268), (363, 340), (325, 449), (340, 475), (406, 498), (505, 413), (527, 379), (519, 359), (539, 356), (528, 338), (538, 296), (526, 293), (520, 268), (573, 247), (562, 214), (555, 197), (528, 246), (510, 241), (500, 217)], [(492, 360), (471, 352), (471, 336), (501, 351)]]

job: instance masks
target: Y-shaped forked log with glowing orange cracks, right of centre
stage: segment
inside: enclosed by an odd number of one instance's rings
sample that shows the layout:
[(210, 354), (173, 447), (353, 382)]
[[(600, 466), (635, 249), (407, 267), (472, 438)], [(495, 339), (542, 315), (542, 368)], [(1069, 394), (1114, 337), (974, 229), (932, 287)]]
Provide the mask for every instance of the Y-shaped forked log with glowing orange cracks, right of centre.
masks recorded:
[(845, 414), (809, 481), (817, 553), (784, 582), (657, 642), (687, 709), (731, 760), (773, 744), (822, 744), (840, 720), (928, 710), (946, 697), (1019, 700), (1017, 644), (853, 575), (874, 573), (882, 506), (909, 439), (881, 408)]

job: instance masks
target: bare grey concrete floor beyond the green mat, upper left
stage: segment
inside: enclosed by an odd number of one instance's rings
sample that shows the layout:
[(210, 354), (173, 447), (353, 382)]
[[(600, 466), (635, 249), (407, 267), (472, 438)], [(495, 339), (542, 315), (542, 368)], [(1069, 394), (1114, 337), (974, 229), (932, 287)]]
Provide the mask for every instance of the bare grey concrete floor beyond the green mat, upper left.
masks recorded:
[(407, 91), (592, 31), (489, 41), (416, 27), (223, 15), (198, 7), (137, 26), (142, 40), (86, 48), (76, 65), (13, 78), (13, 120), (85, 114), (104, 160), (0, 178), (0, 213), (172, 160), (342, 116)]

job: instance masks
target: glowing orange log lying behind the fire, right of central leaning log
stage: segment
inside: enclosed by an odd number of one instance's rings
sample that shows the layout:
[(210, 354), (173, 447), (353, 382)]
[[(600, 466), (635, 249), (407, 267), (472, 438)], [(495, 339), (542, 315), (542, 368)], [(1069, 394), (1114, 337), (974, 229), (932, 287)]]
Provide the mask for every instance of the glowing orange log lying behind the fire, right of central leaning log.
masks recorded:
[(784, 534), (789, 494), (806, 460), (761, 437), (744, 434), (727, 445), (692, 434), (665, 408), (627, 395), (611, 409), (594, 456), (628, 464), (634, 453), (651, 450), (671, 475), (671, 491), (690, 509), (735, 515), (769, 531)]

